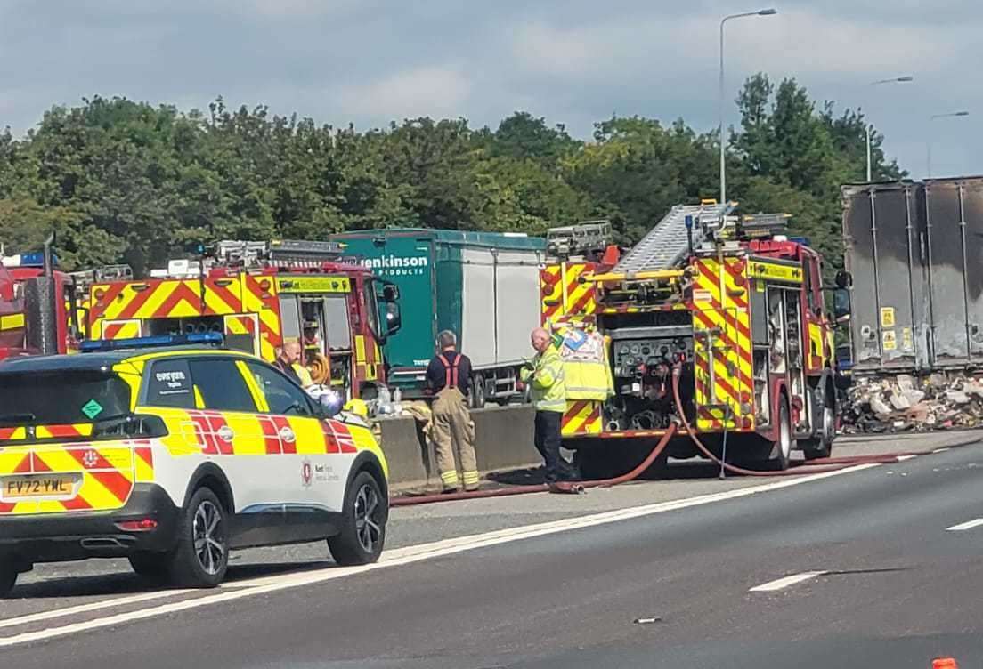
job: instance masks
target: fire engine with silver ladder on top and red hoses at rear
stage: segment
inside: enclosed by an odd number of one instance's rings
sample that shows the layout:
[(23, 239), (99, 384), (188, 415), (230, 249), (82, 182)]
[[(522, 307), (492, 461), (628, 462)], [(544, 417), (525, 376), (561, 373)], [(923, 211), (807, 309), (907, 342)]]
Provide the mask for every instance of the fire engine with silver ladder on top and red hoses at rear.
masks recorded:
[[(822, 257), (786, 236), (786, 215), (737, 217), (735, 206), (677, 205), (623, 256), (543, 269), (543, 322), (567, 371), (564, 446), (585, 475), (638, 460), (670, 422), (734, 462), (785, 469), (796, 448), (829, 456), (837, 395)], [(691, 439), (666, 455), (695, 455)]]

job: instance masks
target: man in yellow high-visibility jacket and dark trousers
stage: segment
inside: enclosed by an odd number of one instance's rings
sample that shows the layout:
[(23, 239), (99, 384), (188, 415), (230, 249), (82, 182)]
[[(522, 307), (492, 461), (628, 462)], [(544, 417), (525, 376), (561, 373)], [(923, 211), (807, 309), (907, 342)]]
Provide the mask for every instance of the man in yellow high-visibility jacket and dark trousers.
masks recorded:
[(563, 474), (564, 462), (559, 454), (563, 412), (566, 410), (566, 386), (563, 381), (563, 360), (553, 345), (552, 337), (542, 327), (530, 336), (536, 357), (530, 366), (523, 367), (521, 378), (532, 385), (536, 405), (536, 449), (546, 465), (546, 482), (554, 486)]

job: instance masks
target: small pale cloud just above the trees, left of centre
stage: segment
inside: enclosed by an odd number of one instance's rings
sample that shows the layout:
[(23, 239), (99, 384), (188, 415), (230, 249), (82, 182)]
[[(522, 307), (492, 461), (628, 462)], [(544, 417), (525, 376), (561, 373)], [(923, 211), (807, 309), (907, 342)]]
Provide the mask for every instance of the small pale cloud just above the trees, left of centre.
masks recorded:
[(464, 113), (471, 90), (457, 68), (422, 67), (342, 87), (334, 100), (347, 114), (372, 118), (453, 117)]

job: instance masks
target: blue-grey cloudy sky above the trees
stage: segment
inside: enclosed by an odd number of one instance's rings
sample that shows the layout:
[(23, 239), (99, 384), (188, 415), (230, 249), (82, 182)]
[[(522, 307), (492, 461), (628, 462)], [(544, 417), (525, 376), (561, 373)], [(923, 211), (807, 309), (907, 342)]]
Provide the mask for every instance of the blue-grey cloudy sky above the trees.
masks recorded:
[[(515, 110), (588, 139), (597, 121), (719, 114), (755, 72), (860, 106), (915, 178), (983, 173), (983, 4), (975, 0), (0, 0), (0, 127), (125, 96), (188, 110), (221, 95), (368, 129), (418, 116), (475, 127)], [(753, 2), (753, 0), (752, 0)], [(911, 76), (910, 84), (871, 85)], [(965, 110), (969, 116), (935, 114)], [(858, 166), (858, 175), (862, 166)]]

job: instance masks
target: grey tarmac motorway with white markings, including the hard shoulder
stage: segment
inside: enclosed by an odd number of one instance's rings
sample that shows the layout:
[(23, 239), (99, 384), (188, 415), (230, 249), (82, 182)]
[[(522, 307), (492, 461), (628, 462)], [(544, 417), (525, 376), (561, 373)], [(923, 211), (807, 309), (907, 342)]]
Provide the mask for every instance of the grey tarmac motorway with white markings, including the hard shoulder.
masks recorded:
[[(19, 669), (980, 666), (981, 476), (974, 444), (811, 478), (400, 509), (379, 566), (255, 562), (208, 592), (38, 570), (0, 602), (0, 656)], [(421, 547), (420, 532), (443, 540)]]

